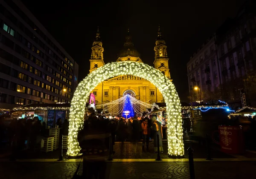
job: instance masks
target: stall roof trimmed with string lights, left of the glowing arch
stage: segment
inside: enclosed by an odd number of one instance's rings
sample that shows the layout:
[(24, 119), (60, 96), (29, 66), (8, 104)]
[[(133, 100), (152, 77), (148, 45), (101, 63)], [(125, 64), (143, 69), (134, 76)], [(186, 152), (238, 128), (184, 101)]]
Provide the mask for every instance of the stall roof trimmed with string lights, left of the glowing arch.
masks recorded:
[(70, 103), (29, 104), (13, 108), (13, 111), (69, 110), (70, 105)]

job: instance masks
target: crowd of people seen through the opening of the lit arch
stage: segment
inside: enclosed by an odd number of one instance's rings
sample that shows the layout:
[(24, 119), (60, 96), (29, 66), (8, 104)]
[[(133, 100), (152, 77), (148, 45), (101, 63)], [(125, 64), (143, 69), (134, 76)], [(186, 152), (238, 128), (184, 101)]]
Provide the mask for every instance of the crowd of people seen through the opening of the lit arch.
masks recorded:
[[(154, 153), (157, 153), (157, 134), (159, 135), (160, 152), (163, 152), (163, 131), (161, 124), (157, 121), (156, 116), (151, 119), (145, 116), (124, 117), (115, 116), (110, 119), (108, 116), (95, 116), (90, 114), (88, 120), (85, 120), (84, 128), (88, 128), (88, 122), (91, 118), (95, 118), (99, 126), (111, 133), (113, 145), (115, 141), (119, 142), (139, 142), (143, 140), (143, 152), (149, 151), (149, 139), (154, 139)], [(107, 126), (107, 127), (106, 127)]]

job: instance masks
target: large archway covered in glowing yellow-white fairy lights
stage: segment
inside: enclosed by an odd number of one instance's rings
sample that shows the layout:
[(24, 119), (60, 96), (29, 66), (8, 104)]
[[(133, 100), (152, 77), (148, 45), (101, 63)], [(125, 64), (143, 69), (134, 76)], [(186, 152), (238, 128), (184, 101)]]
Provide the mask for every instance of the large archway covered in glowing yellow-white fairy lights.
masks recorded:
[(79, 155), (80, 147), (77, 141), (77, 134), (83, 128), (84, 108), (90, 91), (106, 79), (127, 74), (142, 77), (150, 81), (163, 94), (168, 115), (168, 153), (170, 156), (184, 155), (180, 99), (175, 86), (161, 71), (144, 63), (132, 61), (103, 65), (79, 83), (70, 107), (68, 155)]

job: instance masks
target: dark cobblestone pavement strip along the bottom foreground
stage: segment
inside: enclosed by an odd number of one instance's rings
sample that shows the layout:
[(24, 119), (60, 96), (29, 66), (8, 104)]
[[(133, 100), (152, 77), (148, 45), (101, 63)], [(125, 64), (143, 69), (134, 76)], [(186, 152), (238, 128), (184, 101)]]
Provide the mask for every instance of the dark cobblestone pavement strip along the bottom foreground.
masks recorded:
[[(78, 162), (2, 162), (0, 179), (71, 179)], [(82, 164), (79, 169), (81, 175)], [(195, 162), (196, 179), (255, 179), (255, 162)], [(189, 179), (188, 162), (108, 162), (110, 179)]]

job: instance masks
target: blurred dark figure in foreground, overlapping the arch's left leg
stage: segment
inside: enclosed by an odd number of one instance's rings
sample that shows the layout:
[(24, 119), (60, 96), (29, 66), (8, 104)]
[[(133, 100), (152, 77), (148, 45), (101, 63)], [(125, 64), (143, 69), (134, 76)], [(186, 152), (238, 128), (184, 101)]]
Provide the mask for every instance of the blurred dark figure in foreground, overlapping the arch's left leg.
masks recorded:
[(88, 126), (84, 126), (77, 136), (83, 153), (83, 176), (86, 179), (108, 179), (106, 160), (109, 155), (111, 133), (101, 127), (95, 115), (89, 116), (86, 125)]

